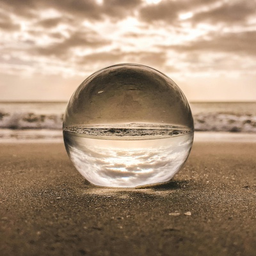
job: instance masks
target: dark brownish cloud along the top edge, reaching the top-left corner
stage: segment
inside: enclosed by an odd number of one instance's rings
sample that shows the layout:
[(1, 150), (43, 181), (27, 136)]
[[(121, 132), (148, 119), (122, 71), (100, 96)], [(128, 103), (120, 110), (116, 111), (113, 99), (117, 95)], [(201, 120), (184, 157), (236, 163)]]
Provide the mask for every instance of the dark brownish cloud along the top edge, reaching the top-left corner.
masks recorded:
[(108, 0), (97, 4), (94, 0), (3, 0), (2, 6), (9, 12), (22, 17), (36, 17), (42, 10), (54, 9), (62, 15), (80, 20), (102, 20), (108, 17), (124, 18), (136, 10), (141, 0)]

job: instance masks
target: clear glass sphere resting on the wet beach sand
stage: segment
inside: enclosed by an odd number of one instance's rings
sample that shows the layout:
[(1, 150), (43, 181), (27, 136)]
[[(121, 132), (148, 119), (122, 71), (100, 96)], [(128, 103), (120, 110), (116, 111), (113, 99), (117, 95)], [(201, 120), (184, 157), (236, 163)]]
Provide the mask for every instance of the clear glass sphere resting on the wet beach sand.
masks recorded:
[(167, 182), (189, 156), (194, 125), (172, 79), (143, 65), (103, 68), (77, 88), (63, 118), (65, 147), (92, 184)]

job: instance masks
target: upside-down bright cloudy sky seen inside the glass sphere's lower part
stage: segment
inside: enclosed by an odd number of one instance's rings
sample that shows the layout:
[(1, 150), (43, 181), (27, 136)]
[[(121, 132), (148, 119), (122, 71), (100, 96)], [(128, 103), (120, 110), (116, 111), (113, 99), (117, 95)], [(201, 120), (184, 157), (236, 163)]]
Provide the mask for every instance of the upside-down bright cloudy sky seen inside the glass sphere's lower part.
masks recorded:
[(65, 134), (70, 159), (95, 185), (136, 187), (172, 179), (186, 161), (193, 136), (154, 140), (99, 140)]

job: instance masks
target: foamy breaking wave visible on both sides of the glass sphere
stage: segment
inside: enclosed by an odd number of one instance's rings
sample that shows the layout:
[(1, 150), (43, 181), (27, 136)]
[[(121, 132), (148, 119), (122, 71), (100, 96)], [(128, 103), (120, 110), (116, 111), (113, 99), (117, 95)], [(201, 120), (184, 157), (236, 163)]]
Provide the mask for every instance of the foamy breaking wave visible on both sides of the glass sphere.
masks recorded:
[[(0, 111), (0, 129), (61, 130), (63, 113)], [(256, 132), (256, 115), (241, 113), (196, 113), (195, 131)]]

